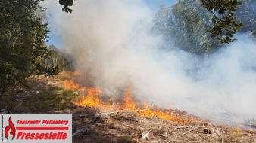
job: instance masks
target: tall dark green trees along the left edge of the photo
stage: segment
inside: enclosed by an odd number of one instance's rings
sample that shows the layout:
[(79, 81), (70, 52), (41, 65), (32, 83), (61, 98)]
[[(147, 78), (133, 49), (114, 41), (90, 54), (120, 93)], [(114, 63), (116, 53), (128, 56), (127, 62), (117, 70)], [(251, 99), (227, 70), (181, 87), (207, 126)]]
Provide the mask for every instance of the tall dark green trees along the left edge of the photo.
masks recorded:
[(40, 0), (0, 1), (0, 95), (8, 87), (26, 85), (26, 78), (37, 72), (50, 75), (40, 57), (50, 52), (45, 47), (47, 23), (36, 14)]

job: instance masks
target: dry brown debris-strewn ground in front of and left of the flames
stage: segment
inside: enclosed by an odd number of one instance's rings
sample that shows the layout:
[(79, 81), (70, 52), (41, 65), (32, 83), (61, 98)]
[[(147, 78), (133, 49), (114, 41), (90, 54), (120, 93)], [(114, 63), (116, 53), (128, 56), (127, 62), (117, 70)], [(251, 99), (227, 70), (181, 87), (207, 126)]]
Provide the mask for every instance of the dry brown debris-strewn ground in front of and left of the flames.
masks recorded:
[[(0, 102), (11, 113), (71, 113), (73, 142), (256, 142), (256, 132), (191, 120), (186, 124), (143, 117), (136, 112), (105, 112), (70, 103), (72, 91), (61, 88), (67, 74), (29, 79), (30, 89), (12, 89)], [(71, 96), (70, 96), (71, 95)], [(173, 111), (173, 110), (170, 110)], [(185, 119), (190, 114), (180, 113)], [(186, 113), (186, 112), (185, 112)]]

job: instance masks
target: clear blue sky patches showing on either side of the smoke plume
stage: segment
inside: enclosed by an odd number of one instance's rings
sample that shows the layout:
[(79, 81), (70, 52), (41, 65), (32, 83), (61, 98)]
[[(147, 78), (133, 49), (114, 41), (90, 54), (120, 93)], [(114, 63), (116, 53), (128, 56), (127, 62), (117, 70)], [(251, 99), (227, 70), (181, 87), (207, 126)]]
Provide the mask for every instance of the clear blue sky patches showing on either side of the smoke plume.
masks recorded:
[[(158, 10), (160, 8), (160, 5), (165, 5), (165, 6), (173, 5), (176, 2), (178, 2), (178, 0), (143, 0), (143, 2), (145, 2), (145, 5), (147, 5), (148, 8), (151, 9), (151, 13), (153, 13), (152, 14), (152, 19), (153, 19), (154, 14), (156, 12), (158, 12)], [(76, 5), (76, 1), (74, 2), (74, 5)], [(61, 7), (59, 9), (61, 11)], [(49, 41), (46, 44), (48, 46), (53, 44), (53, 45), (55, 45), (55, 47), (62, 48), (63, 47), (63, 41), (61, 40), (60, 35), (57, 34), (55, 26), (52, 25), (52, 14), (48, 14), (48, 19), (49, 19), (50, 32), (48, 34), (48, 36), (49, 36), (48, 40)]]

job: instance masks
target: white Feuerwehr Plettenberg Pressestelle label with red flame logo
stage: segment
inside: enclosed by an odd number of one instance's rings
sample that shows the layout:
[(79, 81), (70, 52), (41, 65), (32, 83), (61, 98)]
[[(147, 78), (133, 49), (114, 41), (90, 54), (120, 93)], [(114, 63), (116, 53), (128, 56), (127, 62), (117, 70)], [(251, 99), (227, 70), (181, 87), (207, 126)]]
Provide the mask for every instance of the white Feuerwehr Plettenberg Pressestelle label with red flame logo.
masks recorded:
[(72, 114), (0, 114), (2, 142), (72, 142)]

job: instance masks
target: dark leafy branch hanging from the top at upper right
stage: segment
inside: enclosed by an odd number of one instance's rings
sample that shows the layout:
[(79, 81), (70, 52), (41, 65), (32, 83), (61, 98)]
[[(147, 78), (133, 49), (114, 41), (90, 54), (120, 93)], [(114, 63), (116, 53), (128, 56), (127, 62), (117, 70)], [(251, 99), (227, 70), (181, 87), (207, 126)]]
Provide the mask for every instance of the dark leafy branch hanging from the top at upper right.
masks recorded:
[(216, 38), (221, 43), (235, 41), (233, 34), (238, 32), (242, 23), (237, 23), (234, 17), (234, 11), (242, 2), (238, 0), (201, 0), (201, 5), (214, 15), (211, 21), (213, 26), (207, 32), (211, 33), (212, 38)]

